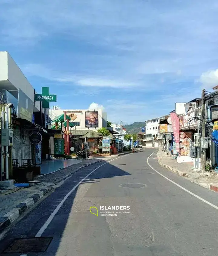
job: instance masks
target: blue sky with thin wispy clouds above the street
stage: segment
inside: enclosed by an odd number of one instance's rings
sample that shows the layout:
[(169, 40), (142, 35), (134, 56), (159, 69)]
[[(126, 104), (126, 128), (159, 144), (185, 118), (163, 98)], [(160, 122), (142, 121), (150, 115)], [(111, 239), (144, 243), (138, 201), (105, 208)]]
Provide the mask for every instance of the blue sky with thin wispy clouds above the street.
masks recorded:
[(217, 13), (216, 0), (1, 0), (0, 50), (62, 109), (144, 121), (218, 84)]

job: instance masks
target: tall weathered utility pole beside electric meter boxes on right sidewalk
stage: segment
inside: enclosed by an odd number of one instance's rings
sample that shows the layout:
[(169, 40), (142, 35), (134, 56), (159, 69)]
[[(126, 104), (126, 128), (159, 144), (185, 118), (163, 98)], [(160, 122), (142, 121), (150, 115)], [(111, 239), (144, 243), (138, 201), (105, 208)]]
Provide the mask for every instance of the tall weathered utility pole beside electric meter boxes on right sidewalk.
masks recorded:
[[(201, 137), (205, 137), (205, 89), (201, 92)], [(206, 149), (201, 148), (201, 171), (202, 173), (205, 172), (206, 166)]]

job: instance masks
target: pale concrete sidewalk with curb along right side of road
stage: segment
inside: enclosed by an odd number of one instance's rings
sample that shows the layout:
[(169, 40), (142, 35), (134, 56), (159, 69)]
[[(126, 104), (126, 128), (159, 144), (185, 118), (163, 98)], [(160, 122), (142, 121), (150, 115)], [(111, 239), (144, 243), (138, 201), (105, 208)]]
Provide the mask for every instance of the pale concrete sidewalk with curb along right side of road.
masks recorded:
[(193, 168), (193, 163), (177, 163), (177, 160), (167, 156), (161, 149), (157, 153), (158, 162), (166, 169), (197, 183), (202, 187), (218, 192), (218, 173), (214, 170), (205, 173), (197, 172)]

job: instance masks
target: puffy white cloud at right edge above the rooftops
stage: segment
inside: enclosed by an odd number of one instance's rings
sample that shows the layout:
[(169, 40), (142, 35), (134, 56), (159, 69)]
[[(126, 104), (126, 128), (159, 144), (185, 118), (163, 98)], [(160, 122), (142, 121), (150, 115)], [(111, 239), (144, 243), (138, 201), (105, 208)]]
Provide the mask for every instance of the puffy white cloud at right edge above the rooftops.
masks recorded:
[(198, 81), (202, 83), (202, 89), (211, 91), (214, 86), (218, 85), (218, 69), (202, 73)]

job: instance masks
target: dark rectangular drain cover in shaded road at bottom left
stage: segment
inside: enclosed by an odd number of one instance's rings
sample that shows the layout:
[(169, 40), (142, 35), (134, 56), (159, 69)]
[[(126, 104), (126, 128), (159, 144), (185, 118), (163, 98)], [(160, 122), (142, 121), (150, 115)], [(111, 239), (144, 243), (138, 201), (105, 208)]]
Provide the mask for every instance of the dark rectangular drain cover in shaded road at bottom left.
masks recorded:
[(46, 251), (53, 237), (15, 239), (3, 253)]

